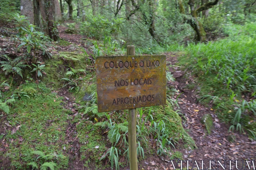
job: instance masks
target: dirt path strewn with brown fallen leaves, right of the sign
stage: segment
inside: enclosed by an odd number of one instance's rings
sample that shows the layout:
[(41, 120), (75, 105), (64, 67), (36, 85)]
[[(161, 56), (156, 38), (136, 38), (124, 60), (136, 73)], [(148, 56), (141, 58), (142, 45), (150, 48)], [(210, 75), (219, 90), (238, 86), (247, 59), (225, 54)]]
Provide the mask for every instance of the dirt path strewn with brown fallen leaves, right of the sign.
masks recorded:
[[(64, 28), (60, 28), (60, 37), (76, 43), (76, 45), (81, 45), (81, 35), (76, 34), (66, 34), (64, 33)], [(177, 148), (174, 151), (179, 151), (183, 153), (183, 160), (205, 160), (205, 166), (209, 167), (209, 160), (255, 160), (256, 159), (256, 142), (249, 140), (246, 135), (238, 133), (229, 133), (229, 125), (221, 123), (215, 114), (214, 110), (211, 107), (206, 107), (196, 103), (198, 89), (196, 87), (196, 80), (193, 76), (190, 75), (189, 70), (181, 71), (179, 67), (175, 66), (177, 63), (177, 57), (180, 54), (177, 53), (166, 53), (167, 66), (170, 68), (169, 71), (172, 72), (176, 81), (168, 82), (168, 86), (172, 86), (175, 89), (179, 90), (179, 107), (174, 107), (174, 110), (178, 111), (182, 115), (183, 127), (187, 129), (188, 134), (195, 140), (197, 149), (182, 149)], [(170, 67), (174, 65), (174, 67)], [(186, 75), (187, 79), (183, 78)], [(195, 83), (194, 89), (187, 89), (188, 84)], [(173, 96), (173, 99), (176, 99), (179, 94)], [(211, 135), (207, 135), (206, 129), (200, 120), (204, 114), (212, 115), (214, 121), (214, 130)], [(234, 135), (236, 139), (234, 142), (228, 141), (228, 136)], [(139, 165), (139, 169), (173, 169), (172, 163), (166, 158), (151, 157), (142, 161)], [(165, 161), (164, 161), (165, 160)], [(150, 163), (154, 161), (154, 163)], [(201, 162), (201, 161), (200, 161)], [(238, 162), (238, 165), (242, 162)], [(198, 164), (201, 167), (201, 164)], [(216, 164), (215, 164), (216, 165)], [(192, 167), (192, 165), (191, 165)], [(217, 167), (217, 166), (212, 166)], [(226, 166), (227, 167), (227, 166)], [(241, 166), (239, 166), (240, 168)], [(127, 169), (124, 167), (121, 169)]]

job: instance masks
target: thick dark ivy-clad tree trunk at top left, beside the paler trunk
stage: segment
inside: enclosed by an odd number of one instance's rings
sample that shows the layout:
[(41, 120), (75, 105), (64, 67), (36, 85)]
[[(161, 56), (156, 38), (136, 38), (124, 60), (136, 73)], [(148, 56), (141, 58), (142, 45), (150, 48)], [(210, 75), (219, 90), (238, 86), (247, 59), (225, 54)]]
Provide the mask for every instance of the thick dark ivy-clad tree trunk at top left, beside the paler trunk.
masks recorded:
[[(58, 33), (58, 28), (54, 23), (55, 21), (54, 0), (34, 0), (34, 1), (35, 1), (35, 6), (39, 7), (39, 11), (41, 14), (40, 18), (42, 18), (42, 25), (43, 25), (45, 34), (49, 35), (49, 37), (54, 41), (59, 40), (60, 37)], [(38, 10), (38, 8), (34, 8), (34, 10)], [(34, 13), (36, 13), (36, 11), (34, 11)], [(37, 20), (38, 18), (35, 18), (35, 21), (38, 24)], [(40, 22), (39, 22), (39, 26), (40, 26)]]

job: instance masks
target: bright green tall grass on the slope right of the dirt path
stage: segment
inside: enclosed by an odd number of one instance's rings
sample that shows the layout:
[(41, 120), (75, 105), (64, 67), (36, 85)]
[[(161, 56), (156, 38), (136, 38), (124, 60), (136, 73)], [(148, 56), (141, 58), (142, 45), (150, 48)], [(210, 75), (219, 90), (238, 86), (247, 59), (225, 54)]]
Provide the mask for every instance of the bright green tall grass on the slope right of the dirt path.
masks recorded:
[[(183, 49), (186, 55), (179, 57), (179, 64), (193, 70), (192, 74), (199, 80), (200, 101), (207, 104), (213, 100), (222, 121), (235, 126), (242, 123), (244, 129), (253, 131), (256, 129), (255, 124), (248, 125), (248, 120), (255, 118), (253, 110), (256, 107), (246, 106), (248, 113), (237, 117), (235, 107), (242, 107), (242, 96), (247, 96), (249, 105), (256, 97), (253, 94), (256, 92), (255, 32), (256, 23), (229, 25), (225, 28), (229, 37), (206, 44), (188, 44)], [(231, 97), (232, 94), (234, 96)], [(238, 117), (243, 119), (239, 120)]]

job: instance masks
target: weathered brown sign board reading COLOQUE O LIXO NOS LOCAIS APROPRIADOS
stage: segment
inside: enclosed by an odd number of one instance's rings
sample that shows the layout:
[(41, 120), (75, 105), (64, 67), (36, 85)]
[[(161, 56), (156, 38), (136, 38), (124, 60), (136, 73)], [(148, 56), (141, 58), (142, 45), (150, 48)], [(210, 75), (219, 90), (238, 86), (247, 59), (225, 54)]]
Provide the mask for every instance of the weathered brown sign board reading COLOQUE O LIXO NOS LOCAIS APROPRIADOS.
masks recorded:
[(96, 58), (98, 112), (166, 104), (166, 56)]

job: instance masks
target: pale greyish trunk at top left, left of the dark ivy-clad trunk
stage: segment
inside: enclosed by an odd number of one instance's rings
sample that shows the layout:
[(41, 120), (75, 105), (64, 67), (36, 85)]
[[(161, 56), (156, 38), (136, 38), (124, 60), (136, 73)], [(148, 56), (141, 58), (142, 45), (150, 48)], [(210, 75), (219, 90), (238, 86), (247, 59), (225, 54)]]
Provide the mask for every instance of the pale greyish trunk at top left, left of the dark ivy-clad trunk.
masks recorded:
[(34, 25), (33, 1), (20, 0), (20, 15), (25, 15), (30, 24)]

